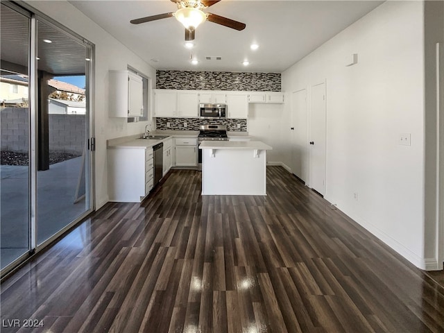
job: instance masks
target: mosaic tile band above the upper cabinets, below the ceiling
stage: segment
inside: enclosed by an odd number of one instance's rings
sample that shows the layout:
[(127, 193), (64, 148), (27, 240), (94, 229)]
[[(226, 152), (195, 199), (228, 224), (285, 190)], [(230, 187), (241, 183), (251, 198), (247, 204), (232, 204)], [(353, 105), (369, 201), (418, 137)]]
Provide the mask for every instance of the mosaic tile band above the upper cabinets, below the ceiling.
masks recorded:
[(280, 92), (280, 73), (228, 71), (155, 71), (157, 89), (236, 90)]

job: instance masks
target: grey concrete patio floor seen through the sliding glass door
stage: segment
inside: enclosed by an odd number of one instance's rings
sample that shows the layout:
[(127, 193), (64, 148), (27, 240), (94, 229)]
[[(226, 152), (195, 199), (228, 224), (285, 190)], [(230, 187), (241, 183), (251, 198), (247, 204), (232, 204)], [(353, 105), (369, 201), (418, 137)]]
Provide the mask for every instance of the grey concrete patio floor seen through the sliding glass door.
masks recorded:
[[(37, 173), (37, 244), (85, 212), (85, 198), (74, 203), (82, 157)], [(28, 167), (1, 165), (0, 263), (7, 266), (28, 250)]]

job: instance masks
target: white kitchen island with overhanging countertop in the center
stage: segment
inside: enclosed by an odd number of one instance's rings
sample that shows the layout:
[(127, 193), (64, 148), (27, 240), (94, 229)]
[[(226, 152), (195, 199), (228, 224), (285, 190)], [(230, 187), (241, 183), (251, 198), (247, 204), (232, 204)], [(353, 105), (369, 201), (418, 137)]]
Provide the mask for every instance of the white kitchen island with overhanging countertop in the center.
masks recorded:
[(266, 151), (259, 141), (204, 141), (203, 195), (266, 196)]

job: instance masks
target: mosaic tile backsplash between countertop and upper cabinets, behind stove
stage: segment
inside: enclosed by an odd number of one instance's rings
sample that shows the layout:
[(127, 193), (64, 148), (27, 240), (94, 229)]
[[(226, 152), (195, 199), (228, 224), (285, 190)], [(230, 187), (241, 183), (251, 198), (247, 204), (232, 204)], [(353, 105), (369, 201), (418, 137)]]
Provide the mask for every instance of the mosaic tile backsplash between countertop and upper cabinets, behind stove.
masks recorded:
[[(183, 126), (183, 123), (187, 123), (187, 127)], [(167, 127), (169, 123), (169, 127)], [(246, 132), (247, 119), (223, 119), (223, 120), (210, 120), (199, 118), (156, 118), (155, 125), (157, 130), (199, 130), (200, 125), (226, 125), (227, 130), (236, 132)], [(240, 127), (238, 127), (240, 126)]]

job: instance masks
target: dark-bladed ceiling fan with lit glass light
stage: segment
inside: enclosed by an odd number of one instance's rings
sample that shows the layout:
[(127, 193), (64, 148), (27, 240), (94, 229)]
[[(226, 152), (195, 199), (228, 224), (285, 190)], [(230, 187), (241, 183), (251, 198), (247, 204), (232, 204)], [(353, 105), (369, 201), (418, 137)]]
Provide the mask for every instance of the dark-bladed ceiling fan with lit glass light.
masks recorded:
[(185, 40), (194, 40), (194, 32), (199, 24), (206, 20), (228, 26), (228, 28), (237, 31), (244, 30), (246, 25), (241, 22), (228, 19), (223, 16), (212, 14), (211, 12), (203, 12), (202, 10), (213, 6), (221, 0), (171, 0), (176, 3), (178, 10), (176, 12), (165, 12), (164, 14), (141, 17), (140, 19), (132, 19), (130, 23), (141, 24), (145, 22), (155, 21), (156, 19), (167, 19), (168, 17), (176, 17), (176, 19), (185, 26)]

